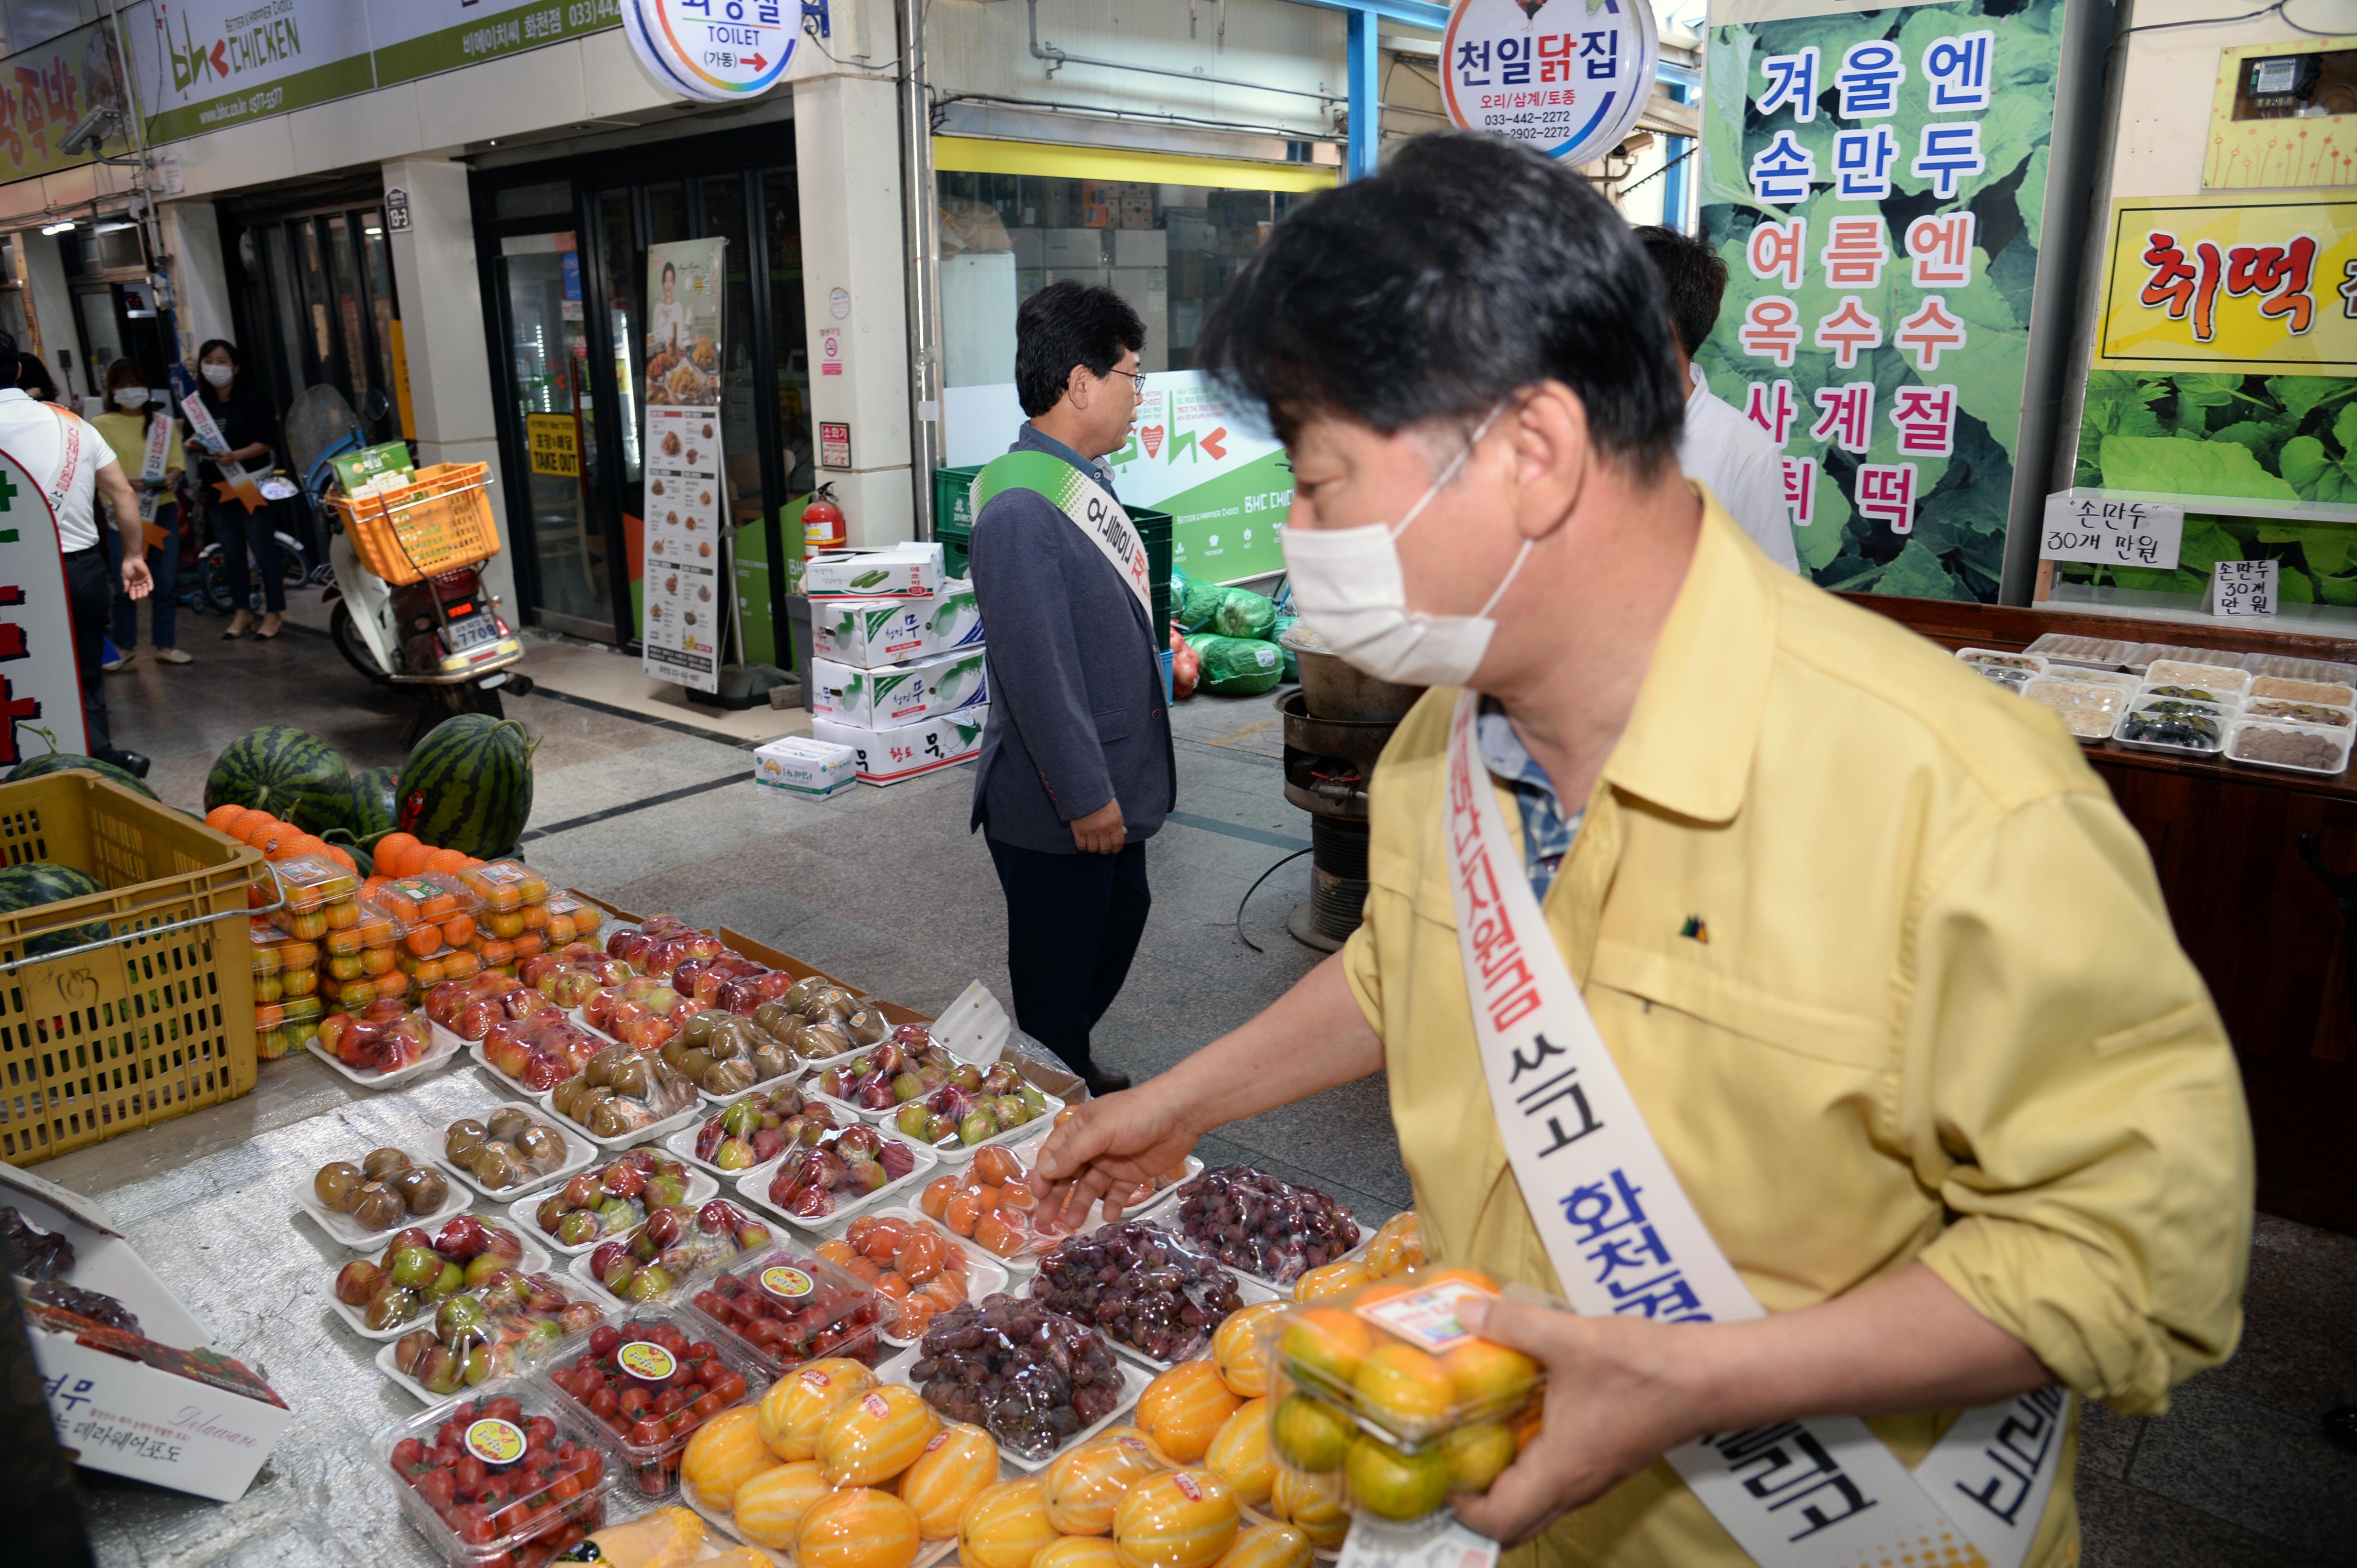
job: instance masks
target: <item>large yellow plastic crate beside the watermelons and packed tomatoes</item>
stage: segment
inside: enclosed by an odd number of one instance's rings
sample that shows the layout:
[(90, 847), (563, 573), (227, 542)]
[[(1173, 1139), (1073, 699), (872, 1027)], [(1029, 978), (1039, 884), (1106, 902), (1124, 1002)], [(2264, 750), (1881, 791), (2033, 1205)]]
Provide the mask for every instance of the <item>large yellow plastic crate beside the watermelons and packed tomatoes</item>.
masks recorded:
[[(28, 1165), (255, 1088), (245, 885), (259, 850), (66, 770), (0, 784), (0, 852), (106, 885), (0, 913), (0, 1161)], [(99, 921), (104, 939), (85, 942)], [(61, 932), (71, 946), (24, 956)]]

